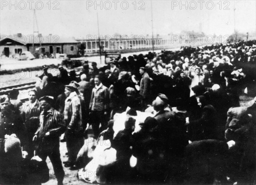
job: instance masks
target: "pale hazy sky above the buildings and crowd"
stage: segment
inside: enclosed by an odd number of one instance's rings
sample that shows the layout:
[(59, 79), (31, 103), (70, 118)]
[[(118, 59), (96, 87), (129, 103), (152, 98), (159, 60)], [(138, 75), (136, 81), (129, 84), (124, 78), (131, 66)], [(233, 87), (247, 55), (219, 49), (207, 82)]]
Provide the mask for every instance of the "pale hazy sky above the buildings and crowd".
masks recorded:
[[(154, 34), (203, 31), (206, 34), (224, 35), (232, 34), (234, 28), (241, 33), (255, 34), (255, 0), (236, 2), (1, 0), (0, 34), (33, 34), (33, 9), (35, 9), (39, 33), (42, 35), (57, 34), (60, 37), (76, 38), (98, 35), (97, 14), (99, 33), (103, 37), (114, 34), (151, 35), (151, 3)], [(183, 6), (180, 6), (181, 4)], [(35, 29), (37, 31), (36, 26)]]

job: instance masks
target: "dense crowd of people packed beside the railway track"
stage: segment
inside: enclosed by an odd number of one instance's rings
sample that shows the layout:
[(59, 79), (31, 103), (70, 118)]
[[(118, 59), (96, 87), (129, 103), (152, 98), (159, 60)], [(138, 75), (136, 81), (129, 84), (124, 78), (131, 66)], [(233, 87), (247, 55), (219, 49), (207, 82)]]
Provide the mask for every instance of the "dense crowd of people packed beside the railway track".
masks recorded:
[[(253, 83), (243, 63), (256, 64), (256, 41), (119, 57), (102, 68), (84, 63), (80, 78), (59, 66), (61, 94), (53, 97), (42, 93), (54, 78), (43, 66), (28, 102), (20, 102), (15, 90), (0, 99), (1, 181), (27, 182), (24, 173), (37, 157), (34, 175), (40, 178), (31, 183), (45, 182), (49, 157), (63, 184), (63, 134), (64, 168), (71, 170), (89, 162), (77, 160), (88, 135), (111, 141), (116, 161), (105, 172), (108, 183), (255, 182), (256, 100), (240, 106), (239, 96)], [(138, 111), (151, 116), (134, 133)], [(122, 112), (125, 129), (114, 134), (114, 115)], [(5, 136), (16, 138), (14, 144), (7, 145)], [(28, 170), (10, 174), (10, 168)]]

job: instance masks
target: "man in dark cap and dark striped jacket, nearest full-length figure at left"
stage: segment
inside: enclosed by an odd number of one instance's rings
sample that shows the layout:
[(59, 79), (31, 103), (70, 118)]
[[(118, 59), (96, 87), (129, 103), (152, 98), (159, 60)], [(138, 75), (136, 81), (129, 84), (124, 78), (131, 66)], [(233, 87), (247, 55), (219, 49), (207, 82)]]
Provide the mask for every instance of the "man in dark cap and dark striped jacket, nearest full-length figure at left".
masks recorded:
[(35, 154), (42, 160), (47, 156), (52, 162), (58, 185), (63, 185), (64, 170), (61, 164), (59, 137), (65, 131), (61, 114), (52, 108), (53, 97), (44, 96), (39, 99), (43, 111), (40, 114), (40, 125), (35, 132)]

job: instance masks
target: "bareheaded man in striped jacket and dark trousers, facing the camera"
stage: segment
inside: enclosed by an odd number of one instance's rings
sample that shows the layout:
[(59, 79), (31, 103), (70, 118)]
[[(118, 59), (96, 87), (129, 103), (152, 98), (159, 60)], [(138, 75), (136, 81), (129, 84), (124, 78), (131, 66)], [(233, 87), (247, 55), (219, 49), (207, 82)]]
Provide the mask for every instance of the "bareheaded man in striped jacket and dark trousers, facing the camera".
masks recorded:
[(109, 90), (102, 85), (98, 75), (94, 78), (95, 88), (93, 88), (90, 100), (90, 121), (92, 123), (94, 136), (99, 136), (99, 123), (102, 125), (101, 130), (107, 129), (106, 116), (109, 108)]

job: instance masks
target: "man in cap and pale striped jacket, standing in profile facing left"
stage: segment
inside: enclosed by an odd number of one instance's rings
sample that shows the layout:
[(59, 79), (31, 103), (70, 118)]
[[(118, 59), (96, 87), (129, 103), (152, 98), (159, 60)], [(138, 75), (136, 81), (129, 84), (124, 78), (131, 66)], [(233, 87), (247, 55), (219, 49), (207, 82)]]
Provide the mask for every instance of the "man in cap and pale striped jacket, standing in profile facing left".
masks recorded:
[(76, 157), (79, 150), (84, 145), (84, 129), (82, 125), (81, 102), (76, 93), (77, 87), (75, 83), (65, 86), (64, 122), (66, 125), (66, 142), (68, 151), (68, 160), (65, 167), (71, 167), (76, 164)]

